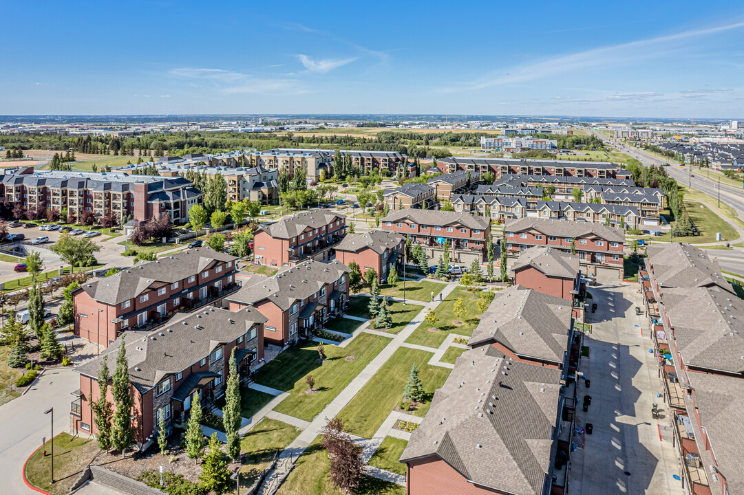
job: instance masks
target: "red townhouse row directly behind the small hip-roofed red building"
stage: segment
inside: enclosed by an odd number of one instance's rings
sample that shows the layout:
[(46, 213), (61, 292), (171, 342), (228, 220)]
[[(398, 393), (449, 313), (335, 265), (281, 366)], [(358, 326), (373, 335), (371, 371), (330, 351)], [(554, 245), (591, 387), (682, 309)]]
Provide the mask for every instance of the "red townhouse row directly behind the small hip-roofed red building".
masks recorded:
[(570, 251), (573, 241), (580, 265), (589, 276), (623, 278), (624, 229), (587, 221), (526, 218), (507, 221), (504, 232), (510, 256), (533, 246)]

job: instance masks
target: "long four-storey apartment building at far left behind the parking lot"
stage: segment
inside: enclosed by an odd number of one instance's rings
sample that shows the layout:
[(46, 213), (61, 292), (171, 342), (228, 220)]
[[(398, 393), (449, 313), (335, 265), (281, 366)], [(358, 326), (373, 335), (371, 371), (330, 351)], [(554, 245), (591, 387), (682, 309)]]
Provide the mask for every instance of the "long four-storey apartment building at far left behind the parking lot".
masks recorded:
[(66, 207), (77, 219), (83, 211), (97, 218), (113, 213), (137, 221), (168, 213), (174, 222), (187, 221), (188, 210), (203, 196), (185, 178), (46, 170), (4, 175), (0, 194), (29, 210)]

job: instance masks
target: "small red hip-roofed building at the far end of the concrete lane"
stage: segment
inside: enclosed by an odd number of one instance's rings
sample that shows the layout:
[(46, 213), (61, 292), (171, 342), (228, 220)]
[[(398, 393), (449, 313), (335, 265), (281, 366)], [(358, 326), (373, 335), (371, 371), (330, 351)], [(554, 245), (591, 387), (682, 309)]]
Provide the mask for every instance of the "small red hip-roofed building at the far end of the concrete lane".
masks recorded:
[(579, 257), (550, 246), (522, 251), (510, 271), (515, 285), (549, 296), (573, 302), (581, 291)]

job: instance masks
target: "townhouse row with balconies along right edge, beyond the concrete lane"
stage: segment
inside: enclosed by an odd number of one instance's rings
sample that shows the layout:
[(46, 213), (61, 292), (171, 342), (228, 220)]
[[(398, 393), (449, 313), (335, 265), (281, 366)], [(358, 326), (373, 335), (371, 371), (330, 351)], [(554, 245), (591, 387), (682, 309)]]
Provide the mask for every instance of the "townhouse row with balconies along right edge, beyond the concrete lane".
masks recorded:
[(652, 245), (639, 272), (669, 404), (682, 482), (691, 494), (744, 490), (744, 308), (717, 262), (690, 245)]

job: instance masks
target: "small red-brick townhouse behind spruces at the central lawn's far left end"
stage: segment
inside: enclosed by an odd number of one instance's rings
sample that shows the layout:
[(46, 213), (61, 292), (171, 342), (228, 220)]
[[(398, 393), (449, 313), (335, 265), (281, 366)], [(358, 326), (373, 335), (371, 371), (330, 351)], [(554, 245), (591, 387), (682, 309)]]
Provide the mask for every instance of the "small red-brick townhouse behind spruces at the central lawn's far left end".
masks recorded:
[(336, 246), (336, 259), (346, 266), (359, 265), (362, 276), (368, 270), (377, 273), (377, 281), (388, 278), (390, 269), (403, 263), (405, 239), (397, 233), (370, 230), (363, 234), (347, 234)]

